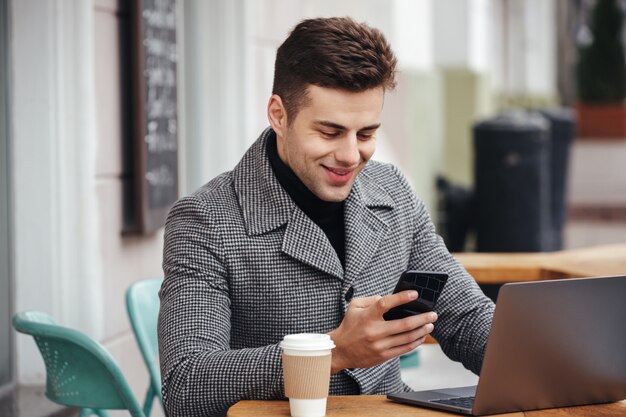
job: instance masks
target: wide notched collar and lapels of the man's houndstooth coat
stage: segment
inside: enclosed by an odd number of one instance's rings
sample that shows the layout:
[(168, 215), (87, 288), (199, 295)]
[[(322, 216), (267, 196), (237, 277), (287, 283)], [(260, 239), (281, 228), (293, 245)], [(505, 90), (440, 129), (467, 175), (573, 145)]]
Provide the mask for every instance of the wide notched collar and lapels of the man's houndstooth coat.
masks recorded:
[(267, 128), (233, 170), (235, 192), (249, 235), (286, 225), (282, 250), (340, 279), (354, 279), (375, 253), (387, 225), (376, 209), (393, 209), (389, 193), (368, 174), (359, 174), (345, 205), (346, 271), (324, 232), (300, 210), (279, 184), (267, 157)]

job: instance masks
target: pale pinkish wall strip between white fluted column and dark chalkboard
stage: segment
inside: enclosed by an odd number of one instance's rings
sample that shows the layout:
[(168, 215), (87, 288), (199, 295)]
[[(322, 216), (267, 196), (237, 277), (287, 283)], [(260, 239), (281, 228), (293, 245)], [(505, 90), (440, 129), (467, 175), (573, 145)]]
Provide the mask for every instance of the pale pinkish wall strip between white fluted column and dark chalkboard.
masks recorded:
[[(148, 236), (122, 235), (122, 190), (130, 181), (123, 149), (133, 140), (129, 117), (130, 2), (98, 0), (94, 5), (97, 162), (100, 207), (104, 335), (101, 342), (143, 401), (148, 374), (126, 315), (124, 295), (135, 281), (162, 276), (162, 230)], [(158, 406), (157, 406), (158, 407)], [(125, 415), (121, 413), (120, 415)]]

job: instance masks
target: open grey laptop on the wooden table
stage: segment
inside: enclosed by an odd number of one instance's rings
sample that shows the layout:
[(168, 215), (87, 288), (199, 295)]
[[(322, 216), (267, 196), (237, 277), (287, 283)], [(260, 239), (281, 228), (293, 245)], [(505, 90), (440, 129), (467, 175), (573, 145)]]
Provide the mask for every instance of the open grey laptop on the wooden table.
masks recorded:
[(626, 398), (626, 276), (505, 284), (478, 385), (389, 394), (481, 416)]

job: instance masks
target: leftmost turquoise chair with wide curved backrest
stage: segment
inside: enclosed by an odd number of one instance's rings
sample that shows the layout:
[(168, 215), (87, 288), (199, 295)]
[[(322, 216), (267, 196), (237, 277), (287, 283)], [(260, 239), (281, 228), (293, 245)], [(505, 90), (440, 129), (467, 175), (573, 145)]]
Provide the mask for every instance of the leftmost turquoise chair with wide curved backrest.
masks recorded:
[(49, 400), (82, 408), (80, 417), (108, 417), (105, 410), (145, 417), (120, 368), (100, 343), (39, 311), (16, 314), (13, 327), (37, 343), (46, 366)]

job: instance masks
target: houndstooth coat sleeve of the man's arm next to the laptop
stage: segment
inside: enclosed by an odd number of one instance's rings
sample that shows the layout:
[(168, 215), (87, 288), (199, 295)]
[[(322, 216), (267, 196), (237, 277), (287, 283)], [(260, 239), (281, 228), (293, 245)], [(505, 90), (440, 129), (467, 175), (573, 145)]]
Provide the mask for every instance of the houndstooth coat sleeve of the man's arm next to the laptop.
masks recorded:
[[(397, 173), (406, 187), (409, 185)], [(435, 310), (439, 316), (433, 337), (444, 353), (475, 374), (480, 373), (495, 306), (484, 295), (476, 281), (448, 252), (424, 203), (413, 199), (415, 229), (409, 268), (441, 271), (448, 281), (439, 296)]]

